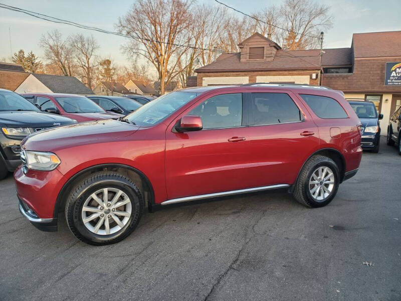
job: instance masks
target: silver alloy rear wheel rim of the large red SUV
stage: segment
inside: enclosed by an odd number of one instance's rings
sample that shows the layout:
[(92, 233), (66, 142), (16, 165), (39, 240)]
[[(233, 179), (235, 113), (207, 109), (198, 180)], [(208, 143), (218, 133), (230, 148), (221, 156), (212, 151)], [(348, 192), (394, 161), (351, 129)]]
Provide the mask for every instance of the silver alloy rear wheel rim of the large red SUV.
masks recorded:
[(309, 179), (309, 192), (313, 199), (321, 202), (326, 199), (334, 189), (334, 173), (326, 166), (318, 167)]

